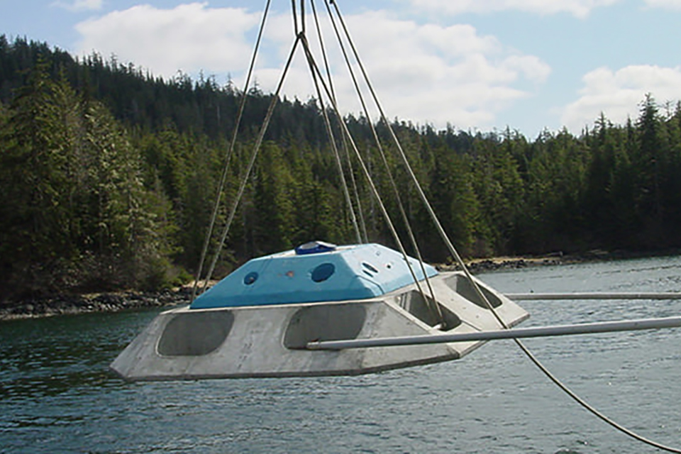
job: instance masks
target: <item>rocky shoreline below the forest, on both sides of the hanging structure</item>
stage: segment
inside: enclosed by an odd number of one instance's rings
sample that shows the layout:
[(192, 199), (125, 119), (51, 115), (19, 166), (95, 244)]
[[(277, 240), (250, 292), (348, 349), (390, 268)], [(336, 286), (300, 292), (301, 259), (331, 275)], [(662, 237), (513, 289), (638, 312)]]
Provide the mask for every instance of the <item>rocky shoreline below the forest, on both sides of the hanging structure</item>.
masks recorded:
[[(592, 250), (580, 254), (551, 253), (541, 256), (494, 257), (465, 260), (470, 272), (514, 270), (525, 267), (573, 265), (607, 260), (629, 260), (681, 255), (680, 250), (659, 253), (607, 252)], [(457, 265), (436, 265), (440, 271), (455, 271)], [(36, 319), (49, 316), (120, 312), (153, 307), (170, 307), (189, 304), (193, 282), (175, 289), (160, 292), (102, 292), (96, 294), (63, 294), (54, 297), (36, 297), (22, 301), (0, 301), (0, 321)]]

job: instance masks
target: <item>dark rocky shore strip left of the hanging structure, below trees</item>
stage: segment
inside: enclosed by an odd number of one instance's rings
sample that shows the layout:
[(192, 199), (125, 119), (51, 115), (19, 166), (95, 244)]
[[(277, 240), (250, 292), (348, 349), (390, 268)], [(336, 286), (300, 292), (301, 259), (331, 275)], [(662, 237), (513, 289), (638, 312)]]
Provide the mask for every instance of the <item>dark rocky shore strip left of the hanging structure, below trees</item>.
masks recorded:
[(191, 287), (181, 287), (162, 292), (116, 292), (29, 298), (19, 302), (0, 302), (0, 320), (175, 306), (189, 304), (191, 294)]

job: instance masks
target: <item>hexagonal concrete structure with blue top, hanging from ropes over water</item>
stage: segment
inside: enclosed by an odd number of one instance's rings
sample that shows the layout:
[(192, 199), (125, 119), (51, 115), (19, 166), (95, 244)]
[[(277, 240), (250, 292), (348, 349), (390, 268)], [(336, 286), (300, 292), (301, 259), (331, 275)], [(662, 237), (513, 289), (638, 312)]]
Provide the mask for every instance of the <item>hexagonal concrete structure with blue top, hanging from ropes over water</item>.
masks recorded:
[[(424, 273), (434, 295), (427, 301)], [(506, 325), (528, 317), (476, 282)], [(456, 360), (485, 341), (348, 350), (307, 344), (499, 328), (460, 272), (438, 272), (377, 244), (308, 243), (250, 260), (190, 306), (159, 314), (111, 368), (127, 380), (358, 375)]]

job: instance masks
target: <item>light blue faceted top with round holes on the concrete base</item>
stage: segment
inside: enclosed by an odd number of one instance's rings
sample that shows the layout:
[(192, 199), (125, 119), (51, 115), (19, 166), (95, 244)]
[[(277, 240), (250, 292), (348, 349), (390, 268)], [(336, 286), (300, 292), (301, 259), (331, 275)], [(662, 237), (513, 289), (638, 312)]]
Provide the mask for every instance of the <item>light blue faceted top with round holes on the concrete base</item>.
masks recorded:
[[(422, 280), (419, 261), (408, 260)], [(438, 274), (424, 267), (428, 277)], [(191, 309), (367, 299), (412, 283), (404, 256), (395, 250), (313, 242), (246, 262), (194, 299)]]

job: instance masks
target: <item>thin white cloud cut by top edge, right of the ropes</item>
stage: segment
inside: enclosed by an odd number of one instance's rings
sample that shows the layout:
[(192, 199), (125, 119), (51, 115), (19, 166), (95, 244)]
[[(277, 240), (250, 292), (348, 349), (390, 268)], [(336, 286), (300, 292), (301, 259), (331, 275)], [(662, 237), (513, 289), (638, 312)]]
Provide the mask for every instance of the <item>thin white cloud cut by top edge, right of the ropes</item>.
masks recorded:
[[(619, 0), (409, 0), (421, 11), (438, 14), (490, 13), (497, 11), (526, 11), (537, 14), (568, 13), (584, 18), (600, 6), (609, 6)], [(674, 0), (648, 0), (674, 1)]]

